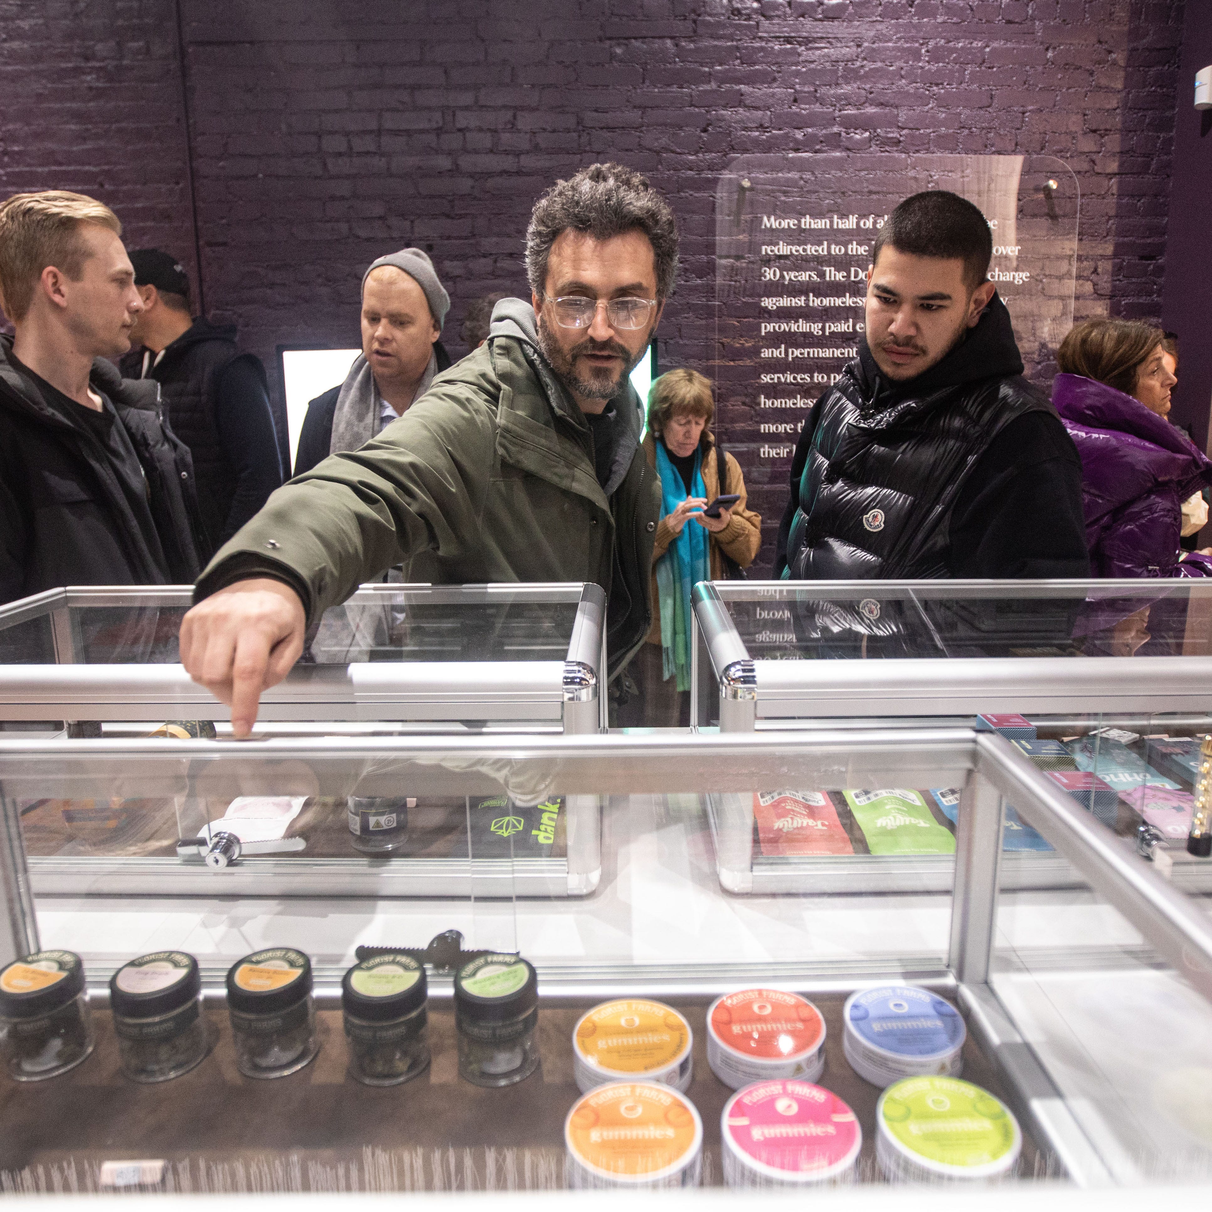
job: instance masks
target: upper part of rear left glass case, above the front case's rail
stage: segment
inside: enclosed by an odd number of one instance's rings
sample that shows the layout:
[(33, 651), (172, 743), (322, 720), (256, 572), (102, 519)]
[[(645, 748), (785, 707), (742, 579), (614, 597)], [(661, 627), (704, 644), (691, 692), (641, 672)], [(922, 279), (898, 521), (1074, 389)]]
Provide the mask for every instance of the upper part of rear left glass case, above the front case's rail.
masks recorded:
[[(191, 587), (68, 588), (0, 606), (0, 721), (228, 720), (179, 664)], [(605, 727), (594, 584), (362, 585), (327, 611), (259, 734)], [(109, 726), (105, 726), (108, 722)], [(79, 731), (79, 730), (76, 730)]]

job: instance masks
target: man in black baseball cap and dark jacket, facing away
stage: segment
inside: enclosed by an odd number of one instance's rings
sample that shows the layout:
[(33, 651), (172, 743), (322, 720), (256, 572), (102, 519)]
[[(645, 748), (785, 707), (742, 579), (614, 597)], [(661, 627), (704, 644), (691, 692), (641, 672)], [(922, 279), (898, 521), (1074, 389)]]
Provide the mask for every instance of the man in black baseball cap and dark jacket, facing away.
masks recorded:
[(143, 310), (121, 370), (160, 384), (168, 423), (194, 457), (199, 548), (208, 554), (282, 482), (265, 368), (240, 353), (235, 325), (193, 318), (189, 275), (176, 257), (160, 248), (130, 257)]

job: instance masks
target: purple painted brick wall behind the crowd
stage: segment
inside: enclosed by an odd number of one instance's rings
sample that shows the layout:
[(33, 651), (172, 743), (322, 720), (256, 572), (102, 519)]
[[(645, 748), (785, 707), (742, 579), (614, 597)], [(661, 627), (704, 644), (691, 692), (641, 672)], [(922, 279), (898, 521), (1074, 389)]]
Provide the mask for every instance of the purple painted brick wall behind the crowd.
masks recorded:
[[(714, 184), (751, 152), (1059, 156), (1082, 193), (1077, 316), (1160, 310), (1182, 0), (181, 0), (179, 16), (185, 90), (172, 0), (0, 0), (0, 195), (93, 193), (132, 244), (193, 267), (191, 168), (207, 307), (271, 372), (280, 343), (356, 343), (361, 269), (405, 244), (448, 284), (462, 353), (467, 303), (525, 288), (534, 196), (604, 158), (648, 172), (681, 219), (667, 366), (710, 359)], [(785, 491), (758, 497), (777, 521)]]

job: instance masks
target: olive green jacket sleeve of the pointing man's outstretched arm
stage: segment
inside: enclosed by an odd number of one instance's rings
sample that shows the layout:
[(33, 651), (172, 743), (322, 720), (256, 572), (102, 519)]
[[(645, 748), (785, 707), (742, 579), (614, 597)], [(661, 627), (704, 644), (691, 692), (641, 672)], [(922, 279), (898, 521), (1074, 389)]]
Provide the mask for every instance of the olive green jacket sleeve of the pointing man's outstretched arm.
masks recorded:
[[(394, 564), (457, 555), (458, 521), (482, 520), (494, 457), (494, 410), (431, 390), (360, 450), (332, 454), (279, 488), (202, 573), (195, 601), (247, 576), (302, 585), (308, 622)], [(298, 578), (295, 581), (295, 578)]]

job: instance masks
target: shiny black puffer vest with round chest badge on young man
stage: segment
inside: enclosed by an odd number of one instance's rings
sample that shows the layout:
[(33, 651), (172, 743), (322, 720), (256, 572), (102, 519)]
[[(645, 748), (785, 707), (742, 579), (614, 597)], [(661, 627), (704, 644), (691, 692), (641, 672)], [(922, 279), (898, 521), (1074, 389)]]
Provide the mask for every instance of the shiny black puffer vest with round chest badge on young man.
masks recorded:
[[(1051, 411), (1021, 376), (864, 404), (851, 362), (817, 406), (788, 541), (788, 576), (863, 581), (948, 574), (960, 486), (1005, 425)], [(885, 404), (884, 400), (888, 402)]]

